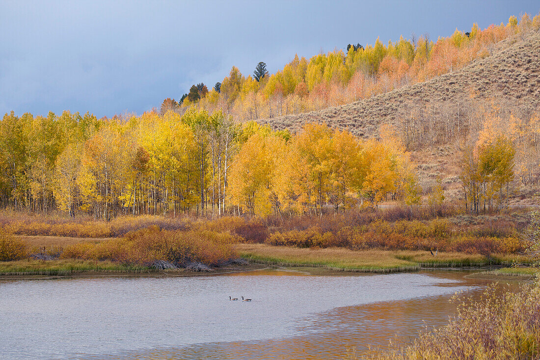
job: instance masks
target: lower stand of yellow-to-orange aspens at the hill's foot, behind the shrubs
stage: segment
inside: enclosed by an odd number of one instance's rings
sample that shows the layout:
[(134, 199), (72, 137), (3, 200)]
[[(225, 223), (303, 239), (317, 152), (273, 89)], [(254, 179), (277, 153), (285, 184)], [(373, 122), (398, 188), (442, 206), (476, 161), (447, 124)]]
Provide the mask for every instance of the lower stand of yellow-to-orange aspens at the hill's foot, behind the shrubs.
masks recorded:
[(111, 219), (321, 215), (384, 199), (420, 201), (414, 166), (392, 131), (380, 141), (306, 124), (299, 134), (222, 111), (97, 119), (14, 112), (0, 122), (6, 208)]

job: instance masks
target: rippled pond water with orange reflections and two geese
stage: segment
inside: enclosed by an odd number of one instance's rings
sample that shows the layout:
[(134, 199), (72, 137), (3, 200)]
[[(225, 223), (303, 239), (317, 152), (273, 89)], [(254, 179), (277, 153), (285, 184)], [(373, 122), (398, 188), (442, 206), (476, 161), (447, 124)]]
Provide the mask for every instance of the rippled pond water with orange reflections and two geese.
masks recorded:
[[(2, 359), (340, 359), (455, 313), (463, 271), (0, 281)], [(252, 302), (228, 301), (228, 296)]]

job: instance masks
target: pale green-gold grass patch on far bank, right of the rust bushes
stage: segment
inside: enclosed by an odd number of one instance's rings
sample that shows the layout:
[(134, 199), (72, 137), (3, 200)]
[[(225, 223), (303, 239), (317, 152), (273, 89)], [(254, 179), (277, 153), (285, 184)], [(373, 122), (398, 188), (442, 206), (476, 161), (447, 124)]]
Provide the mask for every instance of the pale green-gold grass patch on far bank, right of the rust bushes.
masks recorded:
[(510, 256), (485, 257), (460, 252), (363, 250), (345, 248), (306, 249), (266, 244), (238, 244), (239, 254), (255, 262), (281, 266), (321, 266), (334, 270), (365, 272), (415, 271), (427, 267), (462, 267), (502, 264)]

